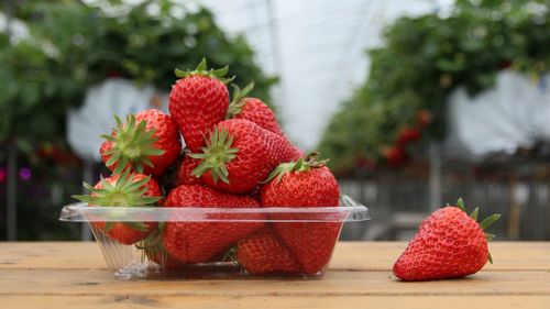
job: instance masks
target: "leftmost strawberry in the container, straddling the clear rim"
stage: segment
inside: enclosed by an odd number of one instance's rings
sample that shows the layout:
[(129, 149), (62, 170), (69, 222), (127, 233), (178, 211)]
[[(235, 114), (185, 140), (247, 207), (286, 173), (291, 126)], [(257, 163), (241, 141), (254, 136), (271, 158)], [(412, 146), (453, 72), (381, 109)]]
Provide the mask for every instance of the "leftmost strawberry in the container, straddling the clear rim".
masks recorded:
[[(89, 206), (139, 207), (151, 206), (162, 198), (158, 184), (143, 174), (122, 174), (101, 178), (96, 186), (85, 183), (90, 190), (89, 196), (73, 196)], [(118, 213), (120, 214), (120, 213)], [(155, 222), (92, 222), (94, 227), (103, 231), (109, 238), (123, 244), (133, 244), (150, 235), (156, 228)]]

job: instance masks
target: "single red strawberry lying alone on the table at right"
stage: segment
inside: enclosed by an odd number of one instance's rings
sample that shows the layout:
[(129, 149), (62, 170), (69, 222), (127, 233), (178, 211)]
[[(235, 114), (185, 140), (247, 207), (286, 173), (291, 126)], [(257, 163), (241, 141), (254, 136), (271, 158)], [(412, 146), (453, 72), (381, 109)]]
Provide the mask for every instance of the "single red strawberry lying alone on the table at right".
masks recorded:
[(463, 277), (477, 273), (492, 262), (485, 234), (499, 214), (476, 222), (477, 208), (469, 217), (460, 199), (458, 207), (436, 210), (422, 221), (417, 234), (394, 264), (403, 280), (430, 280)]

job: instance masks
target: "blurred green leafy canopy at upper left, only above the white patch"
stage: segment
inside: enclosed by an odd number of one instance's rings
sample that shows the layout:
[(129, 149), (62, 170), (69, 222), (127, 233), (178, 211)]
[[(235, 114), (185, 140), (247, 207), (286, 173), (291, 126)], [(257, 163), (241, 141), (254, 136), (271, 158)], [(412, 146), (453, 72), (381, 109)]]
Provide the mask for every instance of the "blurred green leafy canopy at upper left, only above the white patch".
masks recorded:
[(276, 78), (254, 63), (244, 37), (229, 36), (210, 11), (168, 0), (121, 2), (24, 1), (15, 8), (31, 35), (10, 42), (0, 33), (0, 141), (16, 136), (23, 151), (63, 141), (67, 110), (91, 85), (120, 76), (169, 91), (174, 68), (194, 68), (202, 57), (211, 67), (229, 65), (240, 86), (254, 80), (253, 95), (270, 101)]

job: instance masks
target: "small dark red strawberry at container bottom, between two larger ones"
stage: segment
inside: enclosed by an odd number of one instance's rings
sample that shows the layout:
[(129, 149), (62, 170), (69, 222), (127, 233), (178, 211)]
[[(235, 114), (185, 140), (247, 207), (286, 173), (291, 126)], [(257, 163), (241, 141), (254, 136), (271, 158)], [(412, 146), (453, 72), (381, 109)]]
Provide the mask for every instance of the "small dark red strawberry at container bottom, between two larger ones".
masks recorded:
[(235, 258), (244, 269), (254, 275), (301, 273), (298, 261), (271, 227), (264, 227), (239, 241)]

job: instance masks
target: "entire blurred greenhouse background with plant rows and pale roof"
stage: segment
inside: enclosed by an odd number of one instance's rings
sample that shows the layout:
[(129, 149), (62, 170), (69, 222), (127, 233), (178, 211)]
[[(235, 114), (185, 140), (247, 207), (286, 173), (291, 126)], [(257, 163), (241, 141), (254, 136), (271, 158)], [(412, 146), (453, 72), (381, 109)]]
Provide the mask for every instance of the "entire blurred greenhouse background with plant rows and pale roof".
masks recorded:
[[(0, 239), (89, 239), (61, 208), (106, 169), (112, 113), (166, 108), (206, 56), (319, 150), (406, 240), (463, 197), (497, 240), (549, 240), (548, 1), (6, 1), (0, 7)], [(120, 93), (124, 93), (121, 96)], [(99, 132), (101, 133), (101, 132)]]

